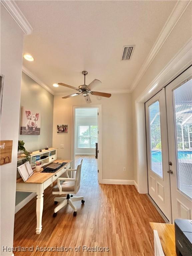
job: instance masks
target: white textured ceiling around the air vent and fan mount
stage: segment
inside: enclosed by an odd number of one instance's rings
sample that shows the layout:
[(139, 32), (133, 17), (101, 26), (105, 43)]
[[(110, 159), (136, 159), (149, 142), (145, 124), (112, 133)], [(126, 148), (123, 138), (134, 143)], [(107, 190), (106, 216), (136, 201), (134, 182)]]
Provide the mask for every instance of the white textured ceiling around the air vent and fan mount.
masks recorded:
[[(16, 1), (33, 27), (25, 36), (23, 60), (54, 94), (99, 79), (99, 90), (130, 89), (176, 1)], [(135, 45), (131, 60), (121, 61), (124, 45)], [(95, 89), (96, 90), (96, 89)]]

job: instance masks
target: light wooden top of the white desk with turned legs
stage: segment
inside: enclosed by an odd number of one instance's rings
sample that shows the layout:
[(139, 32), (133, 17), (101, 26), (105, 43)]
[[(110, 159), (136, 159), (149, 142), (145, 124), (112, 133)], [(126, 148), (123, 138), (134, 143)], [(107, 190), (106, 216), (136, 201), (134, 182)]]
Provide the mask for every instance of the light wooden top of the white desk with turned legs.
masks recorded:
[[(53, 163), (63, 163), (63, 162), (71, 163), (72, 160), (62, 160), (62, 159), (60, 159), (60, 160), (53, 161)], [(58, 171), (54, 172), (54, 173), (46, 173), (46, 172), (42, 173), (42, 172), (34, 171), (34, 174), (27, 181), (24, 181), (22, 178), (18, 178), (16, 180), (16, 183), (38, 183), (38, 184), (42, 184), (43, 182), (48, 180), (50, 177), (57, 174), (57, 172), (59, 172), (59, 171), (60, 171), (60, 169)]]

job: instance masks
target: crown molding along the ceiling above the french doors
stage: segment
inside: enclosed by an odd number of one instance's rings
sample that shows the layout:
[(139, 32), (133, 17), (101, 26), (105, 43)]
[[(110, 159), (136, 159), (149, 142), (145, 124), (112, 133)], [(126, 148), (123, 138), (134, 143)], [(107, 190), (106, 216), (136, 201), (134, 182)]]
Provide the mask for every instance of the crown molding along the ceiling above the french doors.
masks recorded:
[(183, 15), (184, 11), (188, 7), (191, 1), (177, 1), (173, 11), (171, 12), (169, 18), (167, 19), (163, 29), (161, 30), (155, 44), (153, 45), (149, 55), (147, 56), (145, 62), (143, 63), (141, 69), (138, 72), (138, 75), (136, 76), (135, 80), (133, 81), (131, 85), (131, 91), (134, 90), (134, 88), (137, 86), (139, 81), (141, 80), (142, 76), (147, 71), (149, 65), (163, 46), (164, 42), (166, 41), (167, 37), (170, 35), (171, 31)]

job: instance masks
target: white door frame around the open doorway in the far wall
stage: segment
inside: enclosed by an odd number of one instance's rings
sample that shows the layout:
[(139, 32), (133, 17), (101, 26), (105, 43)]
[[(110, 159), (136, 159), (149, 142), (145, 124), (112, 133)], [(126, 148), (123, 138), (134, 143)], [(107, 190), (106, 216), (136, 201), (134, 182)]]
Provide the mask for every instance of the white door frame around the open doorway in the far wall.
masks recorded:
[(73, 114), (72, 114), (72, 138), (71, 138), (71, 156), (73, 160), (73, 167), (75, 168), (75, 109), (76, 108), (97, 108), (99, 113), (98, 118), (98, 170), (99, 170), (99, 183), (102, 184), (102, 105), (101, 104), (92, 104), (92, 105), (78, 105), (73, 106)]

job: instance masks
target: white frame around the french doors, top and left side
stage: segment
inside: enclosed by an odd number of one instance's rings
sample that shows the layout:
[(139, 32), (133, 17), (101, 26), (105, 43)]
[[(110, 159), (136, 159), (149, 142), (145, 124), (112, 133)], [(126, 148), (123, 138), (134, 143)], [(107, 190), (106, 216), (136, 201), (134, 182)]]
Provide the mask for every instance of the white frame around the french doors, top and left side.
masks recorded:
[(141, 194), (148, 193), (147, 150), (145, 129), (145, 102), (192, 65), (192, 39), (190, 39), (135, 100), (137, 187)]

